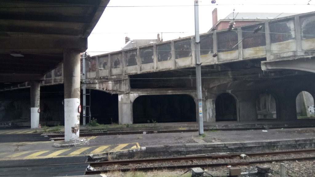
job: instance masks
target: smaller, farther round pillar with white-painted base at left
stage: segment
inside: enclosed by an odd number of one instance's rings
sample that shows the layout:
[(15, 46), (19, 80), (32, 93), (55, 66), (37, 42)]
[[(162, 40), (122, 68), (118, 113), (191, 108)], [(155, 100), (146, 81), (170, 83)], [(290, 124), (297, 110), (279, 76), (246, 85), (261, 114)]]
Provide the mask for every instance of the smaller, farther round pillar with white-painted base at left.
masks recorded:
[(39, 81), (31, 82), (31, 128), (39, 127)]

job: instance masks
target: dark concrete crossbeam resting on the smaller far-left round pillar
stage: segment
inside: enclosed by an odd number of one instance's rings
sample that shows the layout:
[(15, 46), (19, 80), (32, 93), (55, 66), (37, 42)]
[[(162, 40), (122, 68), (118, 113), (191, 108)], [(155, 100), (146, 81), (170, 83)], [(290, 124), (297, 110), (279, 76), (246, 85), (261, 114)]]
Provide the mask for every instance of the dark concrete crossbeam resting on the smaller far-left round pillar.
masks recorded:
[(42, 74), (0, 74), (0, 82), (30, 82), (43, 80), (45, 80), (45, 75)]

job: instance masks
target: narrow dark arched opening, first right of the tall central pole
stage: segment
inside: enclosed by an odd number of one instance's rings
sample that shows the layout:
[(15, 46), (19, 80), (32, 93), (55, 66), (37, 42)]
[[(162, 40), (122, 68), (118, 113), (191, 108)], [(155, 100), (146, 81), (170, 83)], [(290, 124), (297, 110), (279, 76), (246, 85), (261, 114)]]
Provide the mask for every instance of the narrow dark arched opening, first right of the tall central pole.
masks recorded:
[(220, 94), (215, 99), (216, 121), (237, 121), (236, 101), (230, 94)]

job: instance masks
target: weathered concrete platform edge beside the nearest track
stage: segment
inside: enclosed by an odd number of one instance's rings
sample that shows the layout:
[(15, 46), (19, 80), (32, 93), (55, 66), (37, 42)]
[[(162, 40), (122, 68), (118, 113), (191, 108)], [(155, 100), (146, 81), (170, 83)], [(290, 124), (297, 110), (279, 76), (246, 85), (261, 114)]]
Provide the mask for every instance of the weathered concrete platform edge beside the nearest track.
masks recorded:
[(182, 145), (161, 145), (141, 148), (138, 151), (121, 151), (111, 154), (112, 159), (120, 158), (150, 158), (159, 156), (185, 156), (194, 154), (212, 153), (243, 153), (262, 150), (292, 150), (292, 149), (313, 149), (315, 139), (286, 139), (286, 140), (261, 140), (245, 142), (225, 143), (190, 143)]

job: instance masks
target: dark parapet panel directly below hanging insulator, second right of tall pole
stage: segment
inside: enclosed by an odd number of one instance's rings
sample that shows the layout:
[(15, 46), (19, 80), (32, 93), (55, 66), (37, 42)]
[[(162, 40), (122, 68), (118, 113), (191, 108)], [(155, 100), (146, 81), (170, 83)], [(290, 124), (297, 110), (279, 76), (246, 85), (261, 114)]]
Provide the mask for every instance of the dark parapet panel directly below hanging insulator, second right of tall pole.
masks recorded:
[[(228, 52), (232, 51), (232, 47), (238, 43), (238, 34), (237, 31), (227, 31), (217, 34), (218, 39), (218, 51), (219, 52)], [(238, 49), (238, 45), (234, 47)]]

